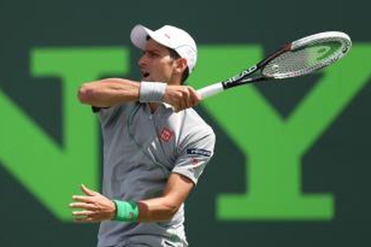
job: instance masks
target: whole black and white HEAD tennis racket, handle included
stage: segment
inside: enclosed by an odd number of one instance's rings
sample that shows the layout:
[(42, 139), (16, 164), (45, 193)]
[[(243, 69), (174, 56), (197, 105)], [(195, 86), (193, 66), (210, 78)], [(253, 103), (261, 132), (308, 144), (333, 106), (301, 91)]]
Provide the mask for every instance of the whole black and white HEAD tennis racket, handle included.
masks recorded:
[(342, 58), (352, 41), (341, 32), (324, 32), (283, 45), (278, 51), (232, 78), (198, 89), (202, 98), (234, 86), (272, 79), (299, 77), (320, 70)]

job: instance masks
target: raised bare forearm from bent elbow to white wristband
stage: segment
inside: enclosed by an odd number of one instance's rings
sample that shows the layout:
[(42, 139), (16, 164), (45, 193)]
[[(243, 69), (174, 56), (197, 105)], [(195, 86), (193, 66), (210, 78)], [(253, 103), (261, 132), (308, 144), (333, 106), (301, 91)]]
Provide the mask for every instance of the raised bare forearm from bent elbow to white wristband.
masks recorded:
[(139, 82), (111, 78), (84, 83), (78, 91), (80, 102), (98, 107), (110, 107), (139, 100)]

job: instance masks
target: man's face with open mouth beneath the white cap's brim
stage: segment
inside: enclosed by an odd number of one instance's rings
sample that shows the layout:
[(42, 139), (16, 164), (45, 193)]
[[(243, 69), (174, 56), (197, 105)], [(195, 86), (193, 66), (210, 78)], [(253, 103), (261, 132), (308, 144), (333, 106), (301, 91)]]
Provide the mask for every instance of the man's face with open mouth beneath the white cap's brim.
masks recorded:
[(139, 59), (142, 81), (171, 82), (174, 73), (174, 59), (167, 47), (149, 39)]

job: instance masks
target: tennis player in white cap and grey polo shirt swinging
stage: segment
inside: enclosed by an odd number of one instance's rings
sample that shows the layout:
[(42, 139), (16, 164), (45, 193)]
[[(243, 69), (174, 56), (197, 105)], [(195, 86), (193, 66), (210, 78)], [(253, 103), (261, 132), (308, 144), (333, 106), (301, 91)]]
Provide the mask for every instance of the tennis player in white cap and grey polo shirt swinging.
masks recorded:
[(215, 134), (191, 108), (201, 97), (182, 85), (197, 60), (185, 31), (137, 25), (141, 82), (84, 83), (103, 135), (102, 194), (85, 185), (70, 204), (77, 222), (101, 222), (99, 247), (186, 247), (184, 202), (214, 152)]

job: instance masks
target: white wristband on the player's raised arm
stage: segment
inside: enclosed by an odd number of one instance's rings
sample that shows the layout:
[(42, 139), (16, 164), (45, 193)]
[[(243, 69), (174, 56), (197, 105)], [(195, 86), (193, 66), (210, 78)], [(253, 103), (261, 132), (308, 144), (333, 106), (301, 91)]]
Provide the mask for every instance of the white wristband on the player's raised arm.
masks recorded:
[(163, 82), (140, 82), (139, 102), (161, 102), (166, 85)]

